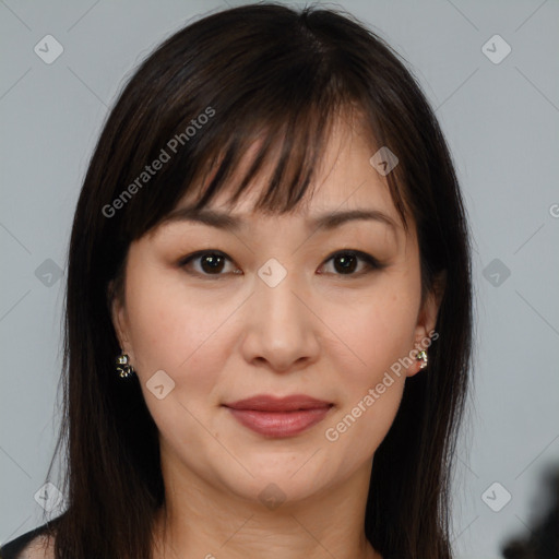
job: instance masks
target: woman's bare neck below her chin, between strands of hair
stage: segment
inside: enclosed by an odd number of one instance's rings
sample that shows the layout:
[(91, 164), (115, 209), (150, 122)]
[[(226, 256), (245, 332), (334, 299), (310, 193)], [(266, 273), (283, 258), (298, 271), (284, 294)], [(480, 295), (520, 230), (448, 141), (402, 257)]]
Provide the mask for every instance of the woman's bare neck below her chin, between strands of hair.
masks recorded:
[(382, 559), (365, 536), (371, 463), (323, 495), (266, 508), (191, 473), (166, 480), (156, 559)]

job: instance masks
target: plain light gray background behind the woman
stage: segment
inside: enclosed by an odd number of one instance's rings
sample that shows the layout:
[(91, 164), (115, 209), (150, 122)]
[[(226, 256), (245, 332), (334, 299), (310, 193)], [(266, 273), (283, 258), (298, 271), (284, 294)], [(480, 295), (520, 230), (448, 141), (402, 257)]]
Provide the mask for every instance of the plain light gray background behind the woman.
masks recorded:
[[(59, 424), (66, 253), (100, 127), (135, 64), (221, 5), (0, 1), (0, 542), (43, 519), (34, 496)], [(454, 546), (462, 559), (498, 558), (501, 542), (527, 536), (545, 512), (543, 475), (559, 464), (559, 4), (338, 5), (408, 60), (454, 156), (474, 231), (478, 324)], [(495, 34), (512, 49), (499, 63), (483, 50)], [(34, 51), (46, 35), (63, 47), (50, 64)], [(486, 49), (502, 56), (493, 43)], [(499, 512), (481, 498), (495, 481), (512, 495)], [(489, 495), (495, 507), (503, 493)]]

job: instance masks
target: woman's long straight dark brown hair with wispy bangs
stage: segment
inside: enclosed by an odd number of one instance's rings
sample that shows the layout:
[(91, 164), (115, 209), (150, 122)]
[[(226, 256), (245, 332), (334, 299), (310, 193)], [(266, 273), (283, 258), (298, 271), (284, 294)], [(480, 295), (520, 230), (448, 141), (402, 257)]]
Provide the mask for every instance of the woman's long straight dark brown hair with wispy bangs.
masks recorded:
[[(371, 155), (386, 145), (400, 159), (386, 179), (403, 223), (413, 215), (417, 227), (424, 297), (445, 276), (429, 367), (406, 380), (374, 455), (365, 532), (384, 559), (451, 557), (449, 485), (473, 313), (469, 234), (449, 148), (416, 80), (379, 36), (341, 11), (263, 3), (213, 13), (166, 39), (119, 95), (91, 159), (68, 255), (55, 453), (64, 445), (68, 507), (50, 522), (57, 558), (147, 559), (164, 504), (157, 428), (138, 380), (115, 371), (110, 301), (122, 296), (130, 243), (210, 171), (197, 209), (230, 187), (255, 139), (235, 199), (275, 154), (257, 210), (290, 211), (343, 115), (359, 116)], [(162, 150), (168, 162), (139, 181)]]

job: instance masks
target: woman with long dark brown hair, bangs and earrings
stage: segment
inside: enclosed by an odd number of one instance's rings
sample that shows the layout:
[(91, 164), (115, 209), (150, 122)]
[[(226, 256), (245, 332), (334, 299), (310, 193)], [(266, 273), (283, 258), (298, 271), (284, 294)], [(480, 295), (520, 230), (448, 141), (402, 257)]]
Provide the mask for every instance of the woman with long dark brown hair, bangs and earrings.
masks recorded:
[(78, 202), (67, 507), (2, 557), (452, 557), (469, 250), (428, 103), (350, 15), (176, 33)]

